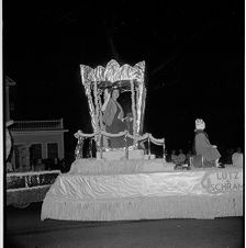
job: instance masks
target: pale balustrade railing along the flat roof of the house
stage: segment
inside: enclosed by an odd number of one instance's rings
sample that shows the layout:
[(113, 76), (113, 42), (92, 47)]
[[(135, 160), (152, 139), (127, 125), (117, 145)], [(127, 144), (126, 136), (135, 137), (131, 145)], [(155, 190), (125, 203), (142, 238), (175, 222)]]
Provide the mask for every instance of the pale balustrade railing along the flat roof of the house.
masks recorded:
[(48, 121), (14, 121), (11, 131), (56, 131), (63, 129), (64, 122), (60, 120)]

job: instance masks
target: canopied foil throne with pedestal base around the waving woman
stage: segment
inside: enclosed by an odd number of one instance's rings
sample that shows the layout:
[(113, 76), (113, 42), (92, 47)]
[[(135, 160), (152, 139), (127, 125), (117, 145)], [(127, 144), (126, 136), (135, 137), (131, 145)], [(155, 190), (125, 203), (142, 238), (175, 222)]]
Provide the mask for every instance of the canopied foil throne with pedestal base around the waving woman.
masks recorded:
[[(88, 98), (93, 134), (83, 134), (78, 131), (75, 135), (78, 138), (77, 158), (81, 154), (79, 145), (83, 144), (85, 138), (90, 138), (91, 143), (94, 140), (98, 159), (144, 158), (145, 146), (143, 144), (145, 140), (148, 140), (149, 144), (150, 138), (149, 134), (143, 135), (146, 100), (145, 61), (137, 63), (135, 66), (127, 64), (120, 66), (118, 61), (112, 59), (105, 67), (98, 66), (94, 69), (80, 65), (80, 72), (82, 86)], [(105, 89), (118, 89), (121, 95), (127, 95), (124, 101), (127, 103), (128, 109), (126, 108), (127, 110), (124, 110), (124, 112), (128, 113), (131, 117), (124, 116), (128, 126), (124, 132), (118, 134), (105, 132), (101, 111), (105, 98)], [(107, 140), (112, 137), (123, 137), (125, 140), (124, 147), (109, 147)], [(164, 139), (155, 140), (161, 145), (164, 144)]]

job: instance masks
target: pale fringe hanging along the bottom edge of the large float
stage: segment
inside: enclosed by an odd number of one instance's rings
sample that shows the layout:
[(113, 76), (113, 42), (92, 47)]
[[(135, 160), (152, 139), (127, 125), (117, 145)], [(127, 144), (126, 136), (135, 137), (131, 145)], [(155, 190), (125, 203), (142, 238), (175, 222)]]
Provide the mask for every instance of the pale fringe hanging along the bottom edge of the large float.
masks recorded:
[(75, 202), (45, 198), (41, 219), (123, 221), (243, 216), (243, 195), (137, 198)]

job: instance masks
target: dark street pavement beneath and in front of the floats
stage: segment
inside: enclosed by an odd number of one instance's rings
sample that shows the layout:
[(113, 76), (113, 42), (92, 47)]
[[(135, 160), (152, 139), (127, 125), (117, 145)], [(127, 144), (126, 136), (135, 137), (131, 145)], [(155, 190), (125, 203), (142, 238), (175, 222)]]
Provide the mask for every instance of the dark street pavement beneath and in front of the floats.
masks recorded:
[(40, 221), (41, 203), (4, 208), (4, 247), (242, 248), (244, 218), (134, 222)]

